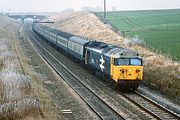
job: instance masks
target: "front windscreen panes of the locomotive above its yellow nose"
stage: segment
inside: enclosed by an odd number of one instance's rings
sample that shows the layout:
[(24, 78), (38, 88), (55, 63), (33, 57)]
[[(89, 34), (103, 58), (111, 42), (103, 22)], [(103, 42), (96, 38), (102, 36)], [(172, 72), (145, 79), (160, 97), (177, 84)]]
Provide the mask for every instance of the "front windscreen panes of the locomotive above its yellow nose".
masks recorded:
[(115, 58), (114, 65), (134, 65), (134, 66), (141, 66), (142, 60), (139, 58)]

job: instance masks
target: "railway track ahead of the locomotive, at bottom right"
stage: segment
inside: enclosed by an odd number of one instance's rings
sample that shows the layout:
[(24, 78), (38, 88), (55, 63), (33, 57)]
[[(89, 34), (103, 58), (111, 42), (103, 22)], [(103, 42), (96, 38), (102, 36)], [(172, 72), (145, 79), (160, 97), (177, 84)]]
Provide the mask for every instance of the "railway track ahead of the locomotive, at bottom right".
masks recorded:
[[(121, 93), (122, 94), (122, 93)], [(135, 91), (123, 96), (158, 120), (180, 120), (180, 116)]]

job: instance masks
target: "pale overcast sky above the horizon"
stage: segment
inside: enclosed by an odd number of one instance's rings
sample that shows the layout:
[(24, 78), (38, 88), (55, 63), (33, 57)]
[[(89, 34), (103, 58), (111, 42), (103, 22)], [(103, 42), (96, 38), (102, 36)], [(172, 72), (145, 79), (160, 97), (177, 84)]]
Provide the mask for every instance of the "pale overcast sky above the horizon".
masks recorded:
[[(143, 10), (180, 8), (180, 0), (106, 0), (107, 9)], [(0, 0), (0, 10), (8, 12), (52, 12), (82, 7), (103, 7), (103, 0)]]

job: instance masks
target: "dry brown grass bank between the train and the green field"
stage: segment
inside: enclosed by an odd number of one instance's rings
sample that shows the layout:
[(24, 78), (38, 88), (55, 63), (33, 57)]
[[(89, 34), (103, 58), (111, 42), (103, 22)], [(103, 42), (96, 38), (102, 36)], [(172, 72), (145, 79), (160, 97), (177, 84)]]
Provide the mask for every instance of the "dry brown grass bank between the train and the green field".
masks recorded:
[(55, 16), (55, 28), (138, 51), (144, 60), (144, 81), (180, 98), (180, 64), (141, 46), (125, 46), (124, 38), (111, 31), (91, 13), (76, 12)]

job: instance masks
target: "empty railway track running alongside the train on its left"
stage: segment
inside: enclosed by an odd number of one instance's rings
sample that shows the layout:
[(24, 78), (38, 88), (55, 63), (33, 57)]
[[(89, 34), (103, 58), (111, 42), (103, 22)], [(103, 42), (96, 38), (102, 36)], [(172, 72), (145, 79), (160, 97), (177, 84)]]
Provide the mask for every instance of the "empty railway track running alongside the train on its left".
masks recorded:
[(26, 27), (26, 37), (33, 44), (36, 51), (48, 62), (50, 66), (64, 79), (72, 89), (86, 102), (86, 104), (103, 120), (124, 120), (117, 111), (109, 106), (100, 96), (89, 89), (81, 80), (60, 63), (48, 50), (46, 50)]

